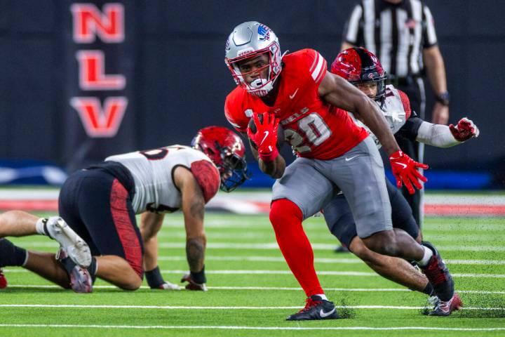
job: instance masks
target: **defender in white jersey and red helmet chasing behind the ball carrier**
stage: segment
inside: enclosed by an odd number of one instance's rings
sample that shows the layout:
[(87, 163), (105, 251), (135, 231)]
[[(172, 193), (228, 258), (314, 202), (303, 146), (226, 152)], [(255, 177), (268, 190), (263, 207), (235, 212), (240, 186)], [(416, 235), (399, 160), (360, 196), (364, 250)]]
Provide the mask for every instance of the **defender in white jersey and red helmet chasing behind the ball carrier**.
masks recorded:
[[(410, 111), (408, 97), (394, 86), (385, 86), (386, 73), (373, 53), (364, 48), (349, 48), (337, 55), (332, 64), (331, 72), (357, 86), (363, 93), (377, 102), (384, 112), (393, 133), (411, 140), (417, 140), (436, 147), (451, 147), (478, 137), (478, 128), (469, 119), (461, 119), (457, 126), (431, 124), (423, 121), (415, 112)], [(358, 125), (366, 128), (361, 121)], [(368, 128), (367, 128), (368, 129)], [(377, 138), (368, 130), (375, 143), (380, 147)], [(389, 180), (386, 179), (393, 227), (402, 228), (412, 237), (421, 242), (422, 233), (418, 230), (412, 211), (403, 197)], [(332, 234), (361, 258), (379, 275), (398, 282), (408, 288), (431, 295), (432, 284), (417, 272), (406, 260), (391, 258), (367, 249), (358, 237), (356, 225), (344, 194), (339, 194), (323, 209), (326, 223)], [(433, 250), (436, 250), (431, 245)], [(461, 305), (459, 296), (454, 293), (449, 300), (440, 300), (431, 315), (450, 315), (453, 309)]]

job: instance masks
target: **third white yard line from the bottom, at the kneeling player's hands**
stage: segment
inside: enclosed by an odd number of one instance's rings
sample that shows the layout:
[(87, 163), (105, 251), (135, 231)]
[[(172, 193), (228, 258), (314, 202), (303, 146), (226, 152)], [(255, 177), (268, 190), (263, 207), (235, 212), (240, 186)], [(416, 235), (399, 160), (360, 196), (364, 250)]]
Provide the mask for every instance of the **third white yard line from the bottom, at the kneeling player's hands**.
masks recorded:
[[(9, 288), (39, 288), (39, 289), (62, 289), (55, 284), (9, 284)], [(302, 291), (302, 288), (287, 286), (208, 286), (213, 290), (280, 290), (280, 291)], [(119, 289), (116, 286), (93, 286), (93, 289)], [(140, 289), (149, 289), (149, 286), (141, 286)], [(404, 288), (325, 288), (325, 291), (356, 291), (356, 292), (397, 292), (412, 291)], [(482, 290), (456, 290), (458, 293), (480, 293), (505, 295), (505, 291), (482, 291)]]

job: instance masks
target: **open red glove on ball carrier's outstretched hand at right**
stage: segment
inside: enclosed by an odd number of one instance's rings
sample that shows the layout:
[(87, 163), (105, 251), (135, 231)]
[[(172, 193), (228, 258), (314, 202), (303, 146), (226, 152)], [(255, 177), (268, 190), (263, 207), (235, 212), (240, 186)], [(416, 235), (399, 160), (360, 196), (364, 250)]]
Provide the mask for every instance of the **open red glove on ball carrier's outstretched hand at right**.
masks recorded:
[(391, 171), (393, 171), (393, 176), (396, 178), (396, 186), (400, 188), (402, 186), (402, 183), (404, 183), (410, 194), (414, 194), (415, 192), (414, 187), (412, 187), (412, 183), (415, 185), (415, 187), (417, 187), (418, 190), (421, 190), (422, 185), (419, 183), (419, 180), (422, 180), (424, 183), (428, 181), (428, 179), (419, 173), (417, 169), (428, 169), (429, 166), (426, 164), (418, 163), (401, 151), (396, 151), (391, 154), (391, 157), (389, 157), (389, 162), (391, 163)]

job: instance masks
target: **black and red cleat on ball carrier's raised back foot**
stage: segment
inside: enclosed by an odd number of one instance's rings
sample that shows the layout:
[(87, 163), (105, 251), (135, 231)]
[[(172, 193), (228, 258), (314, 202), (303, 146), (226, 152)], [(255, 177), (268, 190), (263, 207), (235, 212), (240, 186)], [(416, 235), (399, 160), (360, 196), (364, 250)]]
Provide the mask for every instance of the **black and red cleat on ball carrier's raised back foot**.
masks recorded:
[(424, 267), (419, 266), (419, 268), (433, 285), (435, 295), (441, 301), (447, 302), (454, 296), (454, 280), (435, 246), (429, 242), (422, 242), (422, 245), (431, 249), (433, 256), (431, 256), (427, 265)]

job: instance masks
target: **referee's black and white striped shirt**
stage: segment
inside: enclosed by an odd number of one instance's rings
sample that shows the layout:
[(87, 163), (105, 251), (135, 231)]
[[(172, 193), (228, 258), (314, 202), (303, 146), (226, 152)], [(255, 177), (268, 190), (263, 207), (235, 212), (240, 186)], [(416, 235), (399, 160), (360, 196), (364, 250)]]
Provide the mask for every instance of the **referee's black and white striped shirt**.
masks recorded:
[(344, 41), (375, 53), (395, 77), (418, 75), (422, 49), (437, 44), (433, 17), (420, 0), (362, 0), (346, 23)]

